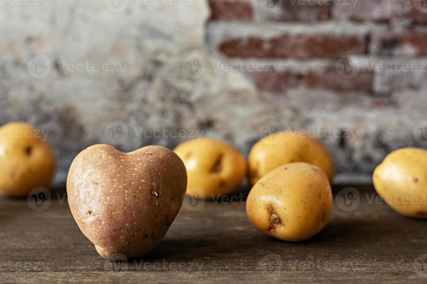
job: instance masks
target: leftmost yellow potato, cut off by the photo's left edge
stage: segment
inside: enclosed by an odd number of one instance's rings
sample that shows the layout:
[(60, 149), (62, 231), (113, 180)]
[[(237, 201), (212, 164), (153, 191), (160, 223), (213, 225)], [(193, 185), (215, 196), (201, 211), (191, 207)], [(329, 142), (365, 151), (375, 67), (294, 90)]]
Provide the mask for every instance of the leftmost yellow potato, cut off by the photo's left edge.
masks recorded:
[(53, 149), (41, 131), (23, 122), (0, 128), (0, 194), (26, 196), (48, 187), (55, 172)]

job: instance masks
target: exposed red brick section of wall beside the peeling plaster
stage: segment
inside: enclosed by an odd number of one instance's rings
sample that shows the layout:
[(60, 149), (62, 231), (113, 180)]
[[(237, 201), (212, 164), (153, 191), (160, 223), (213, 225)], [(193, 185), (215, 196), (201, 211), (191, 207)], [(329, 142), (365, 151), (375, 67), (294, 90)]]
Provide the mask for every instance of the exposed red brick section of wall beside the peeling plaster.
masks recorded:
[(246, 72), (260, 90), (362, 92), (381, 96), (373, 104), (381, 107), (392, 92), (419, 89), (426, 80), (425, 0), (210, 0), (210, 6), (213, 53), (280, 66)]

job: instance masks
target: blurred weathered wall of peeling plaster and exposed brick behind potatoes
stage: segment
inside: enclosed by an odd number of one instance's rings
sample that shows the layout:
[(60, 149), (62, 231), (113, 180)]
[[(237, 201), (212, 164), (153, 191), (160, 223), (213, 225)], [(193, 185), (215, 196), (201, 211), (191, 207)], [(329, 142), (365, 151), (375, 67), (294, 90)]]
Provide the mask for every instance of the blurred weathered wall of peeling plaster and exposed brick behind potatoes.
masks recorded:
[(49, 131), (57, 184), (94, 143), (203, 136), (247, 155), (290, 130), (328, 146), (338, 182), (426, 148), (424, 0), (0, 3), (0, 124)]

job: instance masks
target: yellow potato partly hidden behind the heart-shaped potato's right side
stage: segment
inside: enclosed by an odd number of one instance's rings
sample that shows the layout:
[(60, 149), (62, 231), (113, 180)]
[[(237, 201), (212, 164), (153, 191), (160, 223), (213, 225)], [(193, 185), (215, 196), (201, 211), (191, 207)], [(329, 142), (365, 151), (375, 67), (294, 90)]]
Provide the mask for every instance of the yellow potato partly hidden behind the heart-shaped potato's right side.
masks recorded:
[(211, 198), (226, 195), (239, 186), (246, 174), (242, 155), (227, 143), (204, 138), (178, 145), (175, 153), (187, 169), (187, 195)]

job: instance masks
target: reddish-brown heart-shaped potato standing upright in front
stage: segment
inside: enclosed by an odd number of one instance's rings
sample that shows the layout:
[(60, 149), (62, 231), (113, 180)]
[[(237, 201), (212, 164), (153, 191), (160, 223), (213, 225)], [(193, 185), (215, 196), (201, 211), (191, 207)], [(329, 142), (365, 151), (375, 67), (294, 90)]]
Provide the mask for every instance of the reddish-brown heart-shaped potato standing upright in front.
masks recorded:
[(130, 153), (91, 146), (77, 155), (67, 178), (74, 219), (111, 260), (157, 247), (181, 208), (186, 186), (181, 159), (161, 146)]

